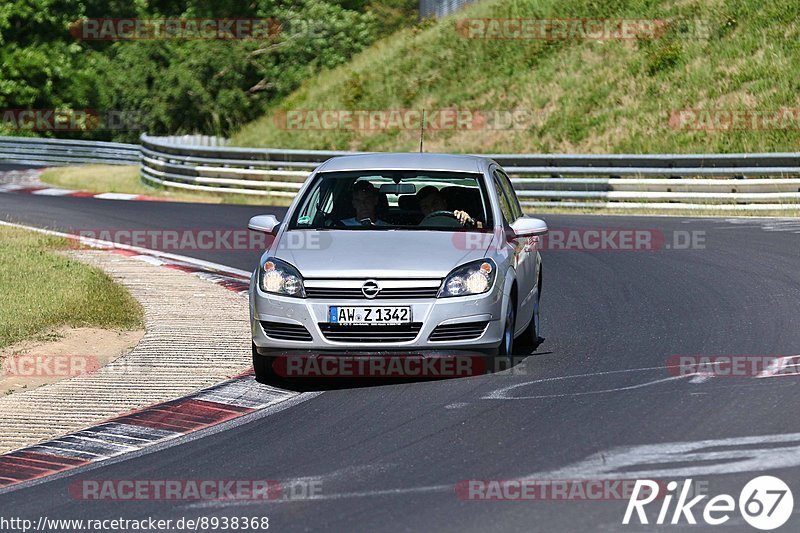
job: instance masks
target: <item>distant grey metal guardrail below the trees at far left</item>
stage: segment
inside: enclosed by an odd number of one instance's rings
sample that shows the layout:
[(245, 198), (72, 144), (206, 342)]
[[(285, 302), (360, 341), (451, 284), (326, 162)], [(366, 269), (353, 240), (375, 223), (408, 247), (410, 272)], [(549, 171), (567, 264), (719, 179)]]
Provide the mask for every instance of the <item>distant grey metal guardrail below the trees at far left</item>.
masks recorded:
[(139, 162), (139, 146), (100, 141), (0, 137), (0, 161), (42, 166), (85, 163), (135, 165)]

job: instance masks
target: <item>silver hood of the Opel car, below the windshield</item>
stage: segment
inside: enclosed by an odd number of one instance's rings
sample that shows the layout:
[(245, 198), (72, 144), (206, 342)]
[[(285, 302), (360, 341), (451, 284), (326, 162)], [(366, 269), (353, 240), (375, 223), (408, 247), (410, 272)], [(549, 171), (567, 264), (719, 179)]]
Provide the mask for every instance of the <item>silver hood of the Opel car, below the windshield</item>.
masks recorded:
[(312, 278), (443, 278), (485, 256), (492, 233), (295, 230), (272, 253)]

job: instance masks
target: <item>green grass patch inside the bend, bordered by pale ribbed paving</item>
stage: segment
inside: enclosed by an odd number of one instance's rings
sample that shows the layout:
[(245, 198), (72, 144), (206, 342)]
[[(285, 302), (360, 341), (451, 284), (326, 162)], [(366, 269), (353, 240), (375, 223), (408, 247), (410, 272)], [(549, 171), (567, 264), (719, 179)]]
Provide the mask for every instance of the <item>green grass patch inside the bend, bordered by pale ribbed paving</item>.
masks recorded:
[(0, 348), (61, 326), (144, 327), (139, 303), (103, 271), (59, 250), (64, 239), (0, 226)]

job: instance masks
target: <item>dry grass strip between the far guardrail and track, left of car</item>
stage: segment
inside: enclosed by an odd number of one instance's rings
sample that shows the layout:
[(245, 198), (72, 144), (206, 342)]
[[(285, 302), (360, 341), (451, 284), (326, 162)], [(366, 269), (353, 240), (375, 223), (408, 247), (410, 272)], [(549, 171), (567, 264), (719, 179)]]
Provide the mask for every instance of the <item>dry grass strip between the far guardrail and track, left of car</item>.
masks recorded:
[(45, 170), (40, 178), (44, 183), (65, 189), (89, 192), (118, 192), (163, 198), (174, 202), (212, 204), (288, 205), (285, 199), (224, 194), (203, 191), (176, 191), (145, 185), (139, 178), (136, 165), (86, 165), (55, 167)]

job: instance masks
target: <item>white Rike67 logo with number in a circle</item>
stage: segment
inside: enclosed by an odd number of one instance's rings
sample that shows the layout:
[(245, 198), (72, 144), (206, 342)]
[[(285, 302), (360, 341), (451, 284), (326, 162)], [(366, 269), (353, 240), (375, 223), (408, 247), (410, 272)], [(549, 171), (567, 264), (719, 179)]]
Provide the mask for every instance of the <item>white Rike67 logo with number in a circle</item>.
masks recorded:
[[(729, 494), (719, 494), (703, 502), (708, 495), (694, 495), (691, 479), (684, 480), (682, 484), (670, 481), (666, 488), (664, 494), (658, 490), (659, 483), (649, 479), (637, 480), (622, 523), (635, 524), (638, 520), (639, 524), (649, 524), (655, 509), (649, 509), (651, 515), (648, 518), (645, 507), (657, 499), (661, 506), (654, 523), (658, 525), (680, 524), (684, 521), (687, 524), (697, 524), (695, 513), (708, 525), (723, 525), (732, 519), (738, 503), (738, 511), (745, 522), (756, 529), (771, 530), (785, 524), (794, 509), (794, 498), (789, 486), (774, 476), (751, 479), (739, 493), (738, 502)], [(657, 508), (658, 505), (654, 507)]]

